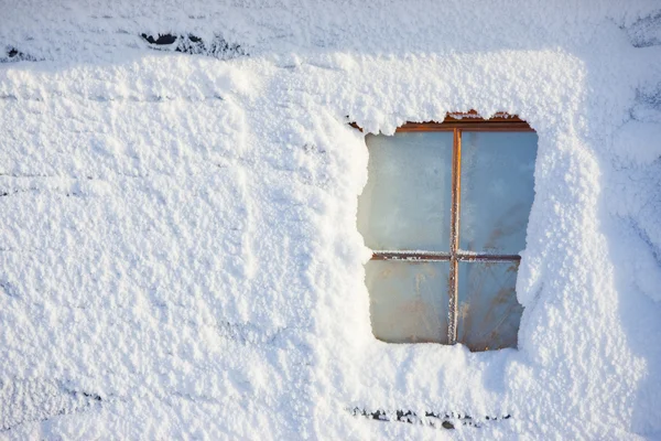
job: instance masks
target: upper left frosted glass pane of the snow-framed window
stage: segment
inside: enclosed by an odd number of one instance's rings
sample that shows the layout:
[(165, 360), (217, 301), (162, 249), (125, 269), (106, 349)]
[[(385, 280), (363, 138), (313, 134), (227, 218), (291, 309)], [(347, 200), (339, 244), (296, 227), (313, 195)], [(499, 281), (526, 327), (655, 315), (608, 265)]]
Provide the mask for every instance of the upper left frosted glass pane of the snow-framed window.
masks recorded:
[(452, 132), (367, 136), (358, 230), (371, 249), (449, 250)]

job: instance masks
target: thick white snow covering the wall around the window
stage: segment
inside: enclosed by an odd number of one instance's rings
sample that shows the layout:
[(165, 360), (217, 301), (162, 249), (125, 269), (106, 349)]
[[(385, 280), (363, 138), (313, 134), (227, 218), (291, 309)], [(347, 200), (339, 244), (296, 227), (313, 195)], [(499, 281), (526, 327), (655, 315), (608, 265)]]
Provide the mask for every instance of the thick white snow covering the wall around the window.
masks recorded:
[[(661, 438), (658, 1), (13, 3), (0, 437)], [(539, 135), (519, 349), (378, 342), (347, 122), (468, 109)]]

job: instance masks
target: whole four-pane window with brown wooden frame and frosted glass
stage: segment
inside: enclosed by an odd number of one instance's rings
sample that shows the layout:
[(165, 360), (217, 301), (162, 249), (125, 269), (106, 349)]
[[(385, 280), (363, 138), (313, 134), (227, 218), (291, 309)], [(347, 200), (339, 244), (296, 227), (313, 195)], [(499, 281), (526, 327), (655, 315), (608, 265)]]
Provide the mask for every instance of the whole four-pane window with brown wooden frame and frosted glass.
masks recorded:
[(375, 250), (366, 284), (377, 338), (517, 346), (537, 141), (517, 117), (475, 112), (366, 137), (358, 229)]

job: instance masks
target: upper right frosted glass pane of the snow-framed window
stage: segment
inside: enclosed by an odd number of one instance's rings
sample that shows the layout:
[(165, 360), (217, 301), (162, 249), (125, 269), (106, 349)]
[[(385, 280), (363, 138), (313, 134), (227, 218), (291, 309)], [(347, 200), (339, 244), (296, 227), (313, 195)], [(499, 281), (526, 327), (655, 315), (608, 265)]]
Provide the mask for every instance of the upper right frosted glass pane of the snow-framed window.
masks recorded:
[(537, 133), (462, 135), (459, 247), (518, 254), (534, 197)]

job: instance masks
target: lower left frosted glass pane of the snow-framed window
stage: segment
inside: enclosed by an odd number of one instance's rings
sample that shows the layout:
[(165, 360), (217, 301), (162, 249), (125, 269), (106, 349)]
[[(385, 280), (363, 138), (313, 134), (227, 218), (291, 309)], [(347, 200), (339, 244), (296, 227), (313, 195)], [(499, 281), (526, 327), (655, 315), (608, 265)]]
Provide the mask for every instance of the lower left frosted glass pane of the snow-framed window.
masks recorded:
[(370, 260), (372, 332), (389, 343), (447, 343), (447, 262)]

